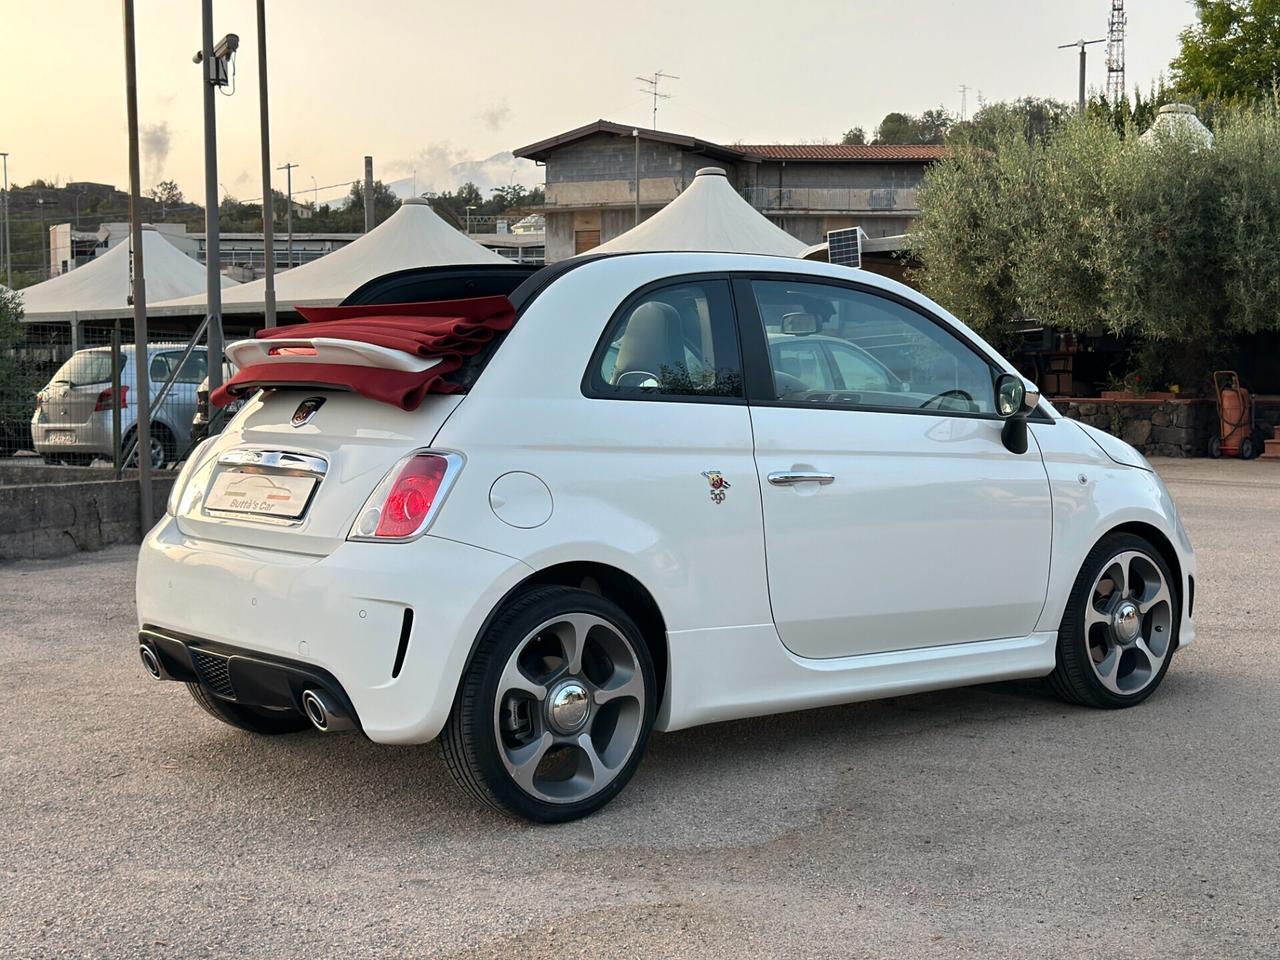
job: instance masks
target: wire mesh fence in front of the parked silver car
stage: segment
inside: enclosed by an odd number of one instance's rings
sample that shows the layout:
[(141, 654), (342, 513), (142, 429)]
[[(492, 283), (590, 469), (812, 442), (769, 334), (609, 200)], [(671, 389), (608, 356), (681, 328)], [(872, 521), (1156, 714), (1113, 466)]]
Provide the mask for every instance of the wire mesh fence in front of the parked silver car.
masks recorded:
[[(193, 445), (192, 421), (209, 372), (204, 325), (189, 320), (147, 334), (154, 466), (180, 462)], [(131, 320), (23, 324), (0, 351), (0, 456), (115, 467), (137, 462), (138, 352)]]

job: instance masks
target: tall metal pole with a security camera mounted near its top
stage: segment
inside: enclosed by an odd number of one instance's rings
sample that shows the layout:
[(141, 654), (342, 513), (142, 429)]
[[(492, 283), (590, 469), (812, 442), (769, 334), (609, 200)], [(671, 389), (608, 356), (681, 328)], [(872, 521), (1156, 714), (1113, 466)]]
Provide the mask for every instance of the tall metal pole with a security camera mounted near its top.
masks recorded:
[[(205, 311), (209, 316), (209, 390), (223, 385), (223, 257), (218, 224), (218, 113), (214, 95), (229, 82), (229, 64), (239, 37), (214, 44), (214, 0), (200, 4), (200, 90), (205, 114)], [(146, 448), (142, 448), (146, 449)]]

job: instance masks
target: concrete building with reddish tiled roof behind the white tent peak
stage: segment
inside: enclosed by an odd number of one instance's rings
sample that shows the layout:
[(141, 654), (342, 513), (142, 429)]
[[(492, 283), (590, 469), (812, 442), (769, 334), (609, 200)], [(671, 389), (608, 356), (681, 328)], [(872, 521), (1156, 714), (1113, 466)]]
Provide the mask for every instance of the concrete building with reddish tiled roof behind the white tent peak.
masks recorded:
[[(547, 168), (547, 262), (584, 253), (646, 219), (687, 187), (696, 170), (724, 168), (756, 210), (805, 243), (861, 227), (868, 237), (906, 233), (915, 192), (941, 146), (755, 143), (724, 146), (608, 120), (520, 147)], [(637, 169), (639, 168), (639, 169)]]

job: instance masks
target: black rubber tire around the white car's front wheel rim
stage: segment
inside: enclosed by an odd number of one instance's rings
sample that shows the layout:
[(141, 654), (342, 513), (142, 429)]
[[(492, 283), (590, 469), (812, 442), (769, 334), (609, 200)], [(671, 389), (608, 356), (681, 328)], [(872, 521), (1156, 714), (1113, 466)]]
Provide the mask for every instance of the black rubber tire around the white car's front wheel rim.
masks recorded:
[[(1165, 579), (1171, 594), (1170, 636), (1166, 640), (1166, 653), (1160, 664), (1160, 669), (1146, 685), (1132, 692), (1120, 694), (1108, 690), (1098, 678), (1093, 668), (1088, 635), (1084, 628), (1085, 604), (1093, 602), (1092, 591), (1094, 581), (1111, 563), (1112, 558), (1125, 552), (1143, 554)], [(1084, 558), (1080, 573), (1075, 579), (1071, 594), (1066, 602), (1066, 611), (1062, 613), (1062, 622), (1057, 630), (1057, 666), (1048, 677), (1052, 691), (1068, 703), (1085, 707), (1098, 707), (1102, 709), (1120, 709), (1134, 707), (1151, 696), (1165, 678), (1169, 664), (1174, 659), (1178, 649), (1178, 625), (1180, 620), (1181, 596), (1180, 584), (1169, 570), (1164, 557), (1147, 540), (1133, 534), (1108, 534), (1089, 550)], [(1123, 663), (1121, 663), (1123, 666)]]

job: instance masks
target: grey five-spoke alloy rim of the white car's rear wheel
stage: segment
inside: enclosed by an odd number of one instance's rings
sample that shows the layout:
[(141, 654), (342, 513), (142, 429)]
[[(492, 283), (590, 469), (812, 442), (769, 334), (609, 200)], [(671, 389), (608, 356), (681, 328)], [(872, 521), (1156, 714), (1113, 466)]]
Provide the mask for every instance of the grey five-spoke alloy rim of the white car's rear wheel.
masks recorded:
[(498, 680), (493, 726), (503, 767), (522, 791), (572, 804), (613, 782), (644, 718), (631, 641), (602, 617), (567, 613), (516, 645)]

